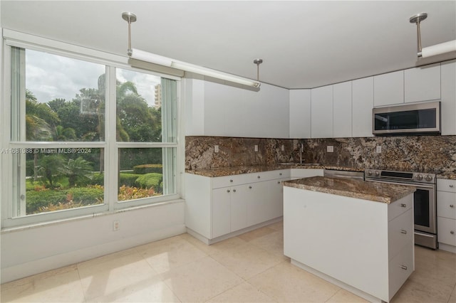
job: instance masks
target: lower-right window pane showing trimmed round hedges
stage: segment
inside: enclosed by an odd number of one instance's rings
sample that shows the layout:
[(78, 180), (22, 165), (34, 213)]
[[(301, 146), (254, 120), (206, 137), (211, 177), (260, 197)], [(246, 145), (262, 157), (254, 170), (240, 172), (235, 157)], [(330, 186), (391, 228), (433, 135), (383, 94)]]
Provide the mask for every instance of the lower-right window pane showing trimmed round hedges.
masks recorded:
[(175, 148), (119, 149), (118, 201), (176, 192)]

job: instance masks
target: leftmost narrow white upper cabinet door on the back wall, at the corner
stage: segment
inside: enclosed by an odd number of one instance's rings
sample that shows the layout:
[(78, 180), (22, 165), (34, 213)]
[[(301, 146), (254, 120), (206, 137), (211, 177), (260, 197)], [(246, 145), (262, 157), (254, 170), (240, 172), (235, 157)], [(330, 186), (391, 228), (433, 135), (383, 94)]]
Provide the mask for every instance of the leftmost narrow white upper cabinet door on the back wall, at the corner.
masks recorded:
[(311, 90), (290, 90), (291, 139), (311, 137)]

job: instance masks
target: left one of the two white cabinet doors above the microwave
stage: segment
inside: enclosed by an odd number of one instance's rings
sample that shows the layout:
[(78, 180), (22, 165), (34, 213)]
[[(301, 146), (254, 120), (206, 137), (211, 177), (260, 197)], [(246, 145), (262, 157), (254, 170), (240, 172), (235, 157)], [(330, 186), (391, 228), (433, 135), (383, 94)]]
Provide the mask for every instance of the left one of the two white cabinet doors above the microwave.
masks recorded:
[(373, 77), (373, 104), (375, 107), (404, 102), (404, 71)]

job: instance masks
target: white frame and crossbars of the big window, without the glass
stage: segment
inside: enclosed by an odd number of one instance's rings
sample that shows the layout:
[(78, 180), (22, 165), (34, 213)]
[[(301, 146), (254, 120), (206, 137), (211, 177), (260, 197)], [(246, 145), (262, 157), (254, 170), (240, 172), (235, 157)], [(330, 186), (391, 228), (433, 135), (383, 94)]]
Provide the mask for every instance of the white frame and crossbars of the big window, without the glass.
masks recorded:
[[(118, 201), (118, 186), (105, 186), (104, 203), (100, 205), (84, 206), (82, 208), (71, 208), (63, 211), (52, 211), (48, 213), (37, 213), (27, 216), (14, 218), (14, 181), (11, 178), (14, 164), (12, 163), (13, 154), (1, 154), (0, 159), (0, 176), (2, 179), (2, 192), (0, 193), (1, 201), (1, 228), (15, 228), (23, 225), (46, 224), (50, 222), (68, 220), (73, 218), (81, 218), (87, 216), (100, 216), (107, 213), (115, 213), (117, 211), (126, 211), (128, 208), (137, 208), (143, 206), (155, 206), (161, 203), (172, 203), (182, 198), (182, 169), (184, 167), (185, 147), (182, 126), (180, 123), (182, 117), (182, 101), (181, 101), (181, 78), (175, 75), (167, 75), (157, 73), (150, 68), (135, 68), (128, 64), (128, 58), (103, 53), (98, 50), (74, 46), (60, 41), (52, 41), (50, 39), (37, 36), (19, 33), (4, 29), (3, 37), (3, 94), (0, 104), (0, 126), (6, 129), (7, 132), (0, 134), (1, 149), (20, 149), (33, 147), (38, 148), (72, 148), (72, 147), (88, 147), (102, 148), (105, 152), (105, 181), (104, 184), (118, 184), (118, 151), (122, 148), (175, 148), (175, 193), (163, 196), (153, 196), (149, 198), (140, 198), (131, 201)], [(103, 142), (14, 142), (11, 139), (11, 47), (25, 48), (26, 50), (37, 50), (44, 53), (61, 55), (67, 58), (74, 58), (90, 63), (105, 65), (105, 81), (106, 81), (106, 101), (105, 101), (105, 141)], [(122, 68), (125, 70), (133, 70), (138, 73), (147, 73), (160, 78), (167, 78), (176, 81), (176, 140), (173, 143), (164, 142), (117, 142), (115, 138), (115, 117), (116, 115), (116, 97), (115, 97), (115, 82), (116, 69)], [(25, 105), (24, 105), (25, 107)], [(24, 110), (25, 112), (25, 110)]]

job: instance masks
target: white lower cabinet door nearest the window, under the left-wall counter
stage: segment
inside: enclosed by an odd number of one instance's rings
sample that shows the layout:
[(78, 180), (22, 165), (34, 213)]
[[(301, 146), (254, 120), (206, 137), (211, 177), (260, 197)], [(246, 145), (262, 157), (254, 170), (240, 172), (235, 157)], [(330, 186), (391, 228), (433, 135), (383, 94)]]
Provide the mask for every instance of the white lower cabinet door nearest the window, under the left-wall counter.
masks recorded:
[(212, 190), (212, 238), (231, 231), (231, 188)]

